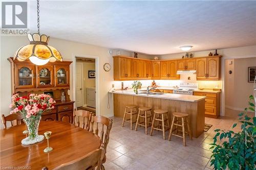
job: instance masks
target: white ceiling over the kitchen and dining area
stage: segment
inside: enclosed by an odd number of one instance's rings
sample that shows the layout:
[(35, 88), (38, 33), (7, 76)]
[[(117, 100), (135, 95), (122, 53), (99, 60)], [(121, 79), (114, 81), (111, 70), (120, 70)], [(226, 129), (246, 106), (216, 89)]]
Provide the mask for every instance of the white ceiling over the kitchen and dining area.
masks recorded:
[[(36, 32), (36, 2), (30, 2)], [(40, 1), (41, 34), (146, 54), (256, 44), (255, 1)]]

